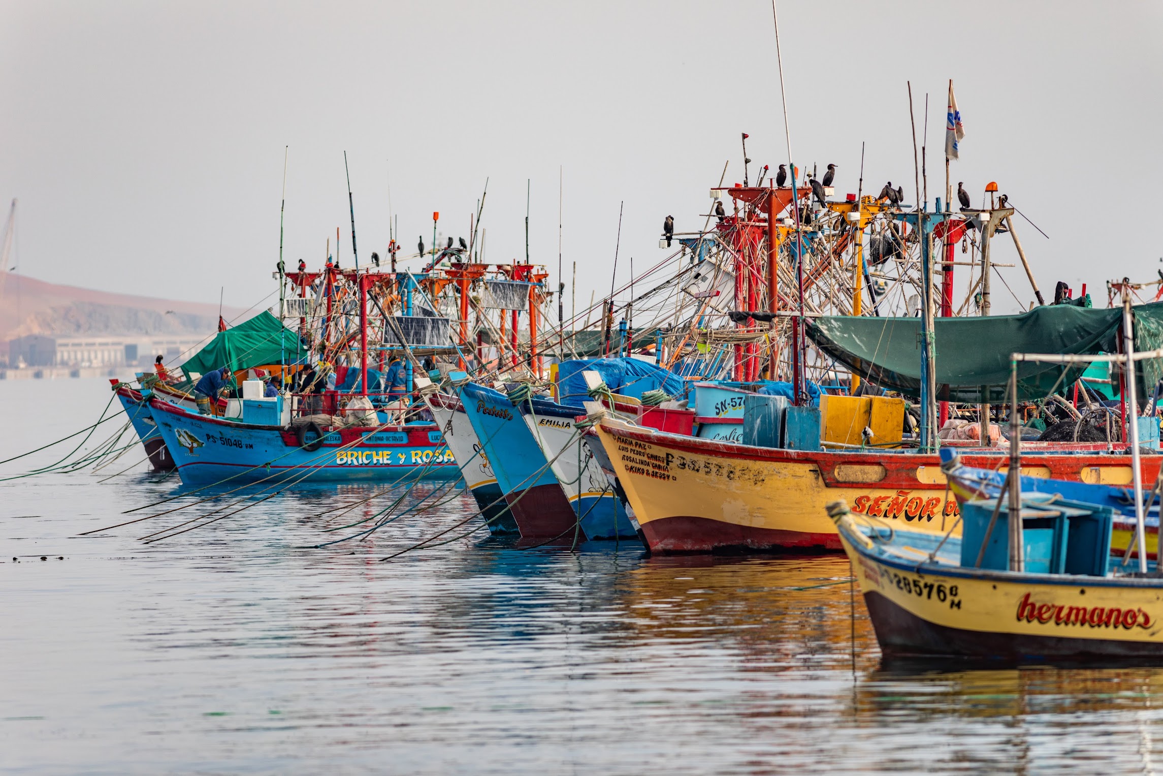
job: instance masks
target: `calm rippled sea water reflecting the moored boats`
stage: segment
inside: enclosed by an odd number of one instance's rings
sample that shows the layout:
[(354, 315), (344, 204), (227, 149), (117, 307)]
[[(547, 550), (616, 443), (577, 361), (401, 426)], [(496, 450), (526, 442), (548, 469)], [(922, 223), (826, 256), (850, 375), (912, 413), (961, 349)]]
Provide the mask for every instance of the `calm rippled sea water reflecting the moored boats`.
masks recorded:
[[(99, 380), (0, 382), (0, 458), (93, 422), (108, 398)], [(180, 492), (144, 463), (100, 482), (141, 457), (0, 483), (5, 771), (1090, 774), (1163, 761), (1163, 669), (883, 669), (840, 556), (519, 551), (477, 534), (379, 562), (463, 520), (471, 497), (308, 549), (386, 506), (321, 514), (373, 493), (334, 485), (166, 541), (140, 537), (226, 501), (79, 536)]]

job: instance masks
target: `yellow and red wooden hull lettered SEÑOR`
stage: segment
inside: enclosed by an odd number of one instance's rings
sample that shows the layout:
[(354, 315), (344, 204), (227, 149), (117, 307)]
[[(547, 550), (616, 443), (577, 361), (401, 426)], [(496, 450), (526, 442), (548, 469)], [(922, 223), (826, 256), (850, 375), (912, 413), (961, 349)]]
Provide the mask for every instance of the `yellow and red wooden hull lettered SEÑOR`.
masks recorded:
[[(748, 447), (609, 418), (595, 432), (651, 551), (839, 550), (825, 506), (840, 498), (855, 513), (927, 533), (944, 534), (959, 514), (936, 455)], [(963, 458), (992, 469), (1006, 460), (1001, 450)], [(1078, 479), (1089, 469), (1129, 474), (1127, 461), (1110, 455), (1040, 454), (1027, 461), (1061, 479)], [(1154, 479), (1158, 468), (1160, 456), (1142, 458), (1144, 478)]]

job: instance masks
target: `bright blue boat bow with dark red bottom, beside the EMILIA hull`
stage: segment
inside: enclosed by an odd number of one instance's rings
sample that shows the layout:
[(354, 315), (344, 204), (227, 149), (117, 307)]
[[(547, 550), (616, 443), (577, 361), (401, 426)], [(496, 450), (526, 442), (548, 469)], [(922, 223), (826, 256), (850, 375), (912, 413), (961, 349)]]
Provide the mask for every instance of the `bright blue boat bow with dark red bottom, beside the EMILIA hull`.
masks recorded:
[[(476, 383), (461, 385), (459, 394), (521, 537), (551, 540), (575, 529), (578, 520), (573, 506), (521, 411), (504, 393)], [(577, 413), (585, 411), (578, 407)], [(584, 533), (578, 531), (584, 540)]]

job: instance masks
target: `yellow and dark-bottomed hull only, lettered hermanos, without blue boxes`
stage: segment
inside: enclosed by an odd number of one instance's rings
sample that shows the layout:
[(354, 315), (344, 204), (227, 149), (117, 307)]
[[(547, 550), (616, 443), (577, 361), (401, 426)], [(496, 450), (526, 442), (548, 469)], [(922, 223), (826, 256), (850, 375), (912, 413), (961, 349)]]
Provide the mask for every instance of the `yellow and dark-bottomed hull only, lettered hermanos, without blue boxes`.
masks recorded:
[(886, 657), (1163, 658), (1163, 579), (886, 558), (851, 520), (840, 518), (841, 542)]

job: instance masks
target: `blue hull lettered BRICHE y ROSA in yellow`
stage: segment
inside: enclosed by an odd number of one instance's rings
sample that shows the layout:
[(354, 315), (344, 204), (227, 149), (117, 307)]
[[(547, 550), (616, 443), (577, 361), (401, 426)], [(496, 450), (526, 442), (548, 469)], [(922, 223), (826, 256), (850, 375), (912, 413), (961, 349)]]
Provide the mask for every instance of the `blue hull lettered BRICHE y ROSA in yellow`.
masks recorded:
[(181, 482), (395, 482), (458, 479), (461, 470), (431, 422), (286, 426), (204, 415), (158, 398), (150, 413)]

